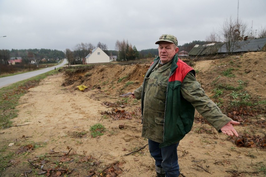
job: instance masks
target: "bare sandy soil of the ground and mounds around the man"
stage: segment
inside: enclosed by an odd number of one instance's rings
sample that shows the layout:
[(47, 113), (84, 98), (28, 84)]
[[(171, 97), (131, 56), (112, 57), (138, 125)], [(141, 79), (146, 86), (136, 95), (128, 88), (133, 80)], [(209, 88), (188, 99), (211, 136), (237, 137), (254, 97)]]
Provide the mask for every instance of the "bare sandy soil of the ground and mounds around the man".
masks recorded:
[[(244, 90), (253, 100), (265, 100), (265, 58), (265, 52), (252, 52), (224, 59), (199, 60), (195, 62), (194, 68), (199, 71), (197, 78), (208, 95), (213, 94), (211, 90), (215, 88), (215, 84), (212, 83), (221, 75), (220, 72), (233, 67), (236, 77), (222, 76), (217, 83), (236, 86), (241, 79), (248, 82)], [(113, 176), (155, 177), (154, 160), (149, 154), (148, 146), (145, 146), (147, 139), (141, 137), (140, 101), (131, 97), (119, 97), (121, 93), (133, 91), (141, 84), (149, 65), (150, 63), (98, 65), (73, 73), (62, 72), (47, 77), (39, 86), (30, 89), (21, 97), (17, 107), (18, 117), (12, 120), (13, 125), (24, 126), (1, 129), (0, 139), (2, 143), (15, 143), (10, 146), (10, 151), (17, 151), (21, 146), (34, 142), (42, 146), (15, 155), (16, 163), (8, 167), (2, 176), (23, 175), (25, 170), (33, 168), (25, 163), (27, 159), (51, 152), (66, 153), (72, 148), (69, 155), (80, 155), (80, 158), (84, 155), (93, 156), (99, 162), (95, 163), (98, 170), (106, 169), (108, 165), (119, 161), (121, 172)], [(121, 79), (123, 77), (125, 78)], [(88, 88), (81, 92), (76, 89), (78, 85), (86, 85)], [(226, 94), (223, 96), (226, 103), (229, 98)], [(108, 107), (106, 103), (112, 103), (113, 106)], [(121, 108), (121, 104), (125, 108)], [(115, 109), (125, 110), (127, 116), (121, 118), (119, 113), (107, 114)], [(247, 117), (252, 121), (256, 121), (256, 118), (265, 119), (264, 113)], [(199, 117), (198, 113), (195, 117)], [(93, 138), (89, 129), (96, 123), (104, 125), (106, 132), (103, 136)], [(119, 125), (124, 128), (119, 128)], [(235, 128), (240, 134), (252, 130), (256, 136), (265, 135), (265, 121), (262, 125), (249, 123)], [(86, 134), (76, 136), (78, 132)], [(195, 121), (192, 131), (178, 146), (183, 176), (265, 176), (258, 172), (262, 163), (266, 165), (265, 148), (238, 147), (229, 140), (228, 136), (215, 132), (209, 125)], [(141, 151), (124, 156), (143, 146), (145, 148)], [(68, 167), (78, 169), (69, 176), (90, 176), (91, 171), (86, 169), (84, 163), (72, 161)], [(29, 173), (28, 176), (34, 174)], [(95, 173), (92, 176), (101, 174)]]

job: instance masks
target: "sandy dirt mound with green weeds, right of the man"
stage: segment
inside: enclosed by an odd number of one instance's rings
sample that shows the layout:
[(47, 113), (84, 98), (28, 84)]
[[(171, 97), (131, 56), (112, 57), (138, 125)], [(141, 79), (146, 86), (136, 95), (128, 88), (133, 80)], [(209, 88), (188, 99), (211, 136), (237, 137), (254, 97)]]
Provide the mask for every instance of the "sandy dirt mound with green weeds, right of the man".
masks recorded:
[(196, 62), (195, 69), (199, 71), (197, 79), (207, 91), (214, 89), (217, 84), (236, 88), (242, 81), (245, 83), (244, 89), (250, 95), (265, 99), (266, 93), (262, 92), (266, 86), (265, 59), (266, 52), (250, 52), (217, 60)]

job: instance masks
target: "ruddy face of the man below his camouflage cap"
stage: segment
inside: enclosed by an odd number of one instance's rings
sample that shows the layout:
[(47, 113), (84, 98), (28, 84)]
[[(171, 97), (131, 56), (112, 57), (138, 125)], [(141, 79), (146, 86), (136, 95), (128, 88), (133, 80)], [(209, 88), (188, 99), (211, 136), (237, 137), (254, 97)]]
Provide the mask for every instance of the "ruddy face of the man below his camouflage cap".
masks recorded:
[(179, 48), (176, 47), (174, 43), (161, 41), (158, 50), (161, 63), (165, 64), (173, 59)]

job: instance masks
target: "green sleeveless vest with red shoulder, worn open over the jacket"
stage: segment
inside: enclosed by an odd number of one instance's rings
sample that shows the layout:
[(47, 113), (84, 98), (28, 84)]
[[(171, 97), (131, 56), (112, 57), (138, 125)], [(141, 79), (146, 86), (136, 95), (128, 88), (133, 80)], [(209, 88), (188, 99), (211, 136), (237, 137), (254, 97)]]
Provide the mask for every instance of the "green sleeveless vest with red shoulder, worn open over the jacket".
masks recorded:
[[(155, 58), (149, 70), (147, 71), (145, 78), (149, 77), (159, 60), (159, 57)], [(170, 76), (167, 82), (167, 89), (165, 93), (166, 100), (163, 120), (163, 142), (160, 143), (160, 147), (169, 146), (179, 142), (188, 132), (190, 132), (192, 128), (195, 108), (191, 103), (182, 97), (180, 90), (183, 79), (190, 71), (192, 71), (195, 75), (194, 69), (180, 60), (176, 54), (171, 63)], [(142, 115), (145, 96), (145, 83), (146, 81), (144, 79), (141, 92)]]

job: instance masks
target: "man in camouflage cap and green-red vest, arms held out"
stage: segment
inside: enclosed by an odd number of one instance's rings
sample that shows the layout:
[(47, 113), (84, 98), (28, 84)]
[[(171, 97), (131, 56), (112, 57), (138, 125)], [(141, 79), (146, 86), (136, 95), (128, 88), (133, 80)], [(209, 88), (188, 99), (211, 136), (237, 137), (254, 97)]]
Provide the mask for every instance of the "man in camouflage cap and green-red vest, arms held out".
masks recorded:
[(238, 136), (233, 125), (239, 122), (226, 117), (204, 93), (195, 71), (178, 56), (177, 39), (162, 35), (159, 56), (150, 65), (143, 84), (132, 93), (141, 99), (142, 136), (148, 139), (158, 177), (179, 176), (177, 146), (190, 132), (195, 108), (218, 131)]

